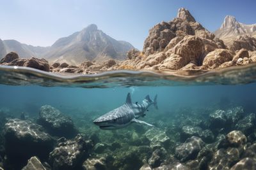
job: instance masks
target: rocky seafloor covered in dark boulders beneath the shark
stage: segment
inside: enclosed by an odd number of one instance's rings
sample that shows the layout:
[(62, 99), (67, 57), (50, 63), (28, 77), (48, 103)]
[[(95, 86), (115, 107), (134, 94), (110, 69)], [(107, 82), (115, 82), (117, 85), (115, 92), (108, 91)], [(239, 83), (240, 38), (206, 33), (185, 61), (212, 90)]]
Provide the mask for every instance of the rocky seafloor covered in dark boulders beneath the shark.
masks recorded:
[(92, 124), (99, 113), (0, 112), (0, 169), (256, 168), (256, 115), (241, 106), (179, 108), (115, 131)]

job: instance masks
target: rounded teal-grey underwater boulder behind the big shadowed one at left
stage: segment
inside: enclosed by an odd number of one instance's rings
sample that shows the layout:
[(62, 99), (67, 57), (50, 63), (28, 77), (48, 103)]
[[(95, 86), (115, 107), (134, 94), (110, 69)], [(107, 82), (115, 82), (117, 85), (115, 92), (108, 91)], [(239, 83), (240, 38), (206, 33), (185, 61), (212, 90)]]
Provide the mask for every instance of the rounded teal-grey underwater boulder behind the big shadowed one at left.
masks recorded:
[(70, 117), (49, 105), (40, 108), (38, 124), (54, 136), (72, 138), (78, 133)]

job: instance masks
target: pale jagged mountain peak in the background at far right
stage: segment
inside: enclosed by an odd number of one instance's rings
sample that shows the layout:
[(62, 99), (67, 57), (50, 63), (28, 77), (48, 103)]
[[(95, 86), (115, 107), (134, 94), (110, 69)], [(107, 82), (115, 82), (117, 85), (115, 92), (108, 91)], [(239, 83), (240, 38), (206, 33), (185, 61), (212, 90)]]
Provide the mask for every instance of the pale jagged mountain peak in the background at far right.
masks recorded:
[(216, 37), (221, 39), (235, 38), (243, 34), (251, 34), (256, 36), (256, 24), (247, 25), (237, 22), (236, 18), (228, 15), (225, 17), (220, 29), (214, 32)]

